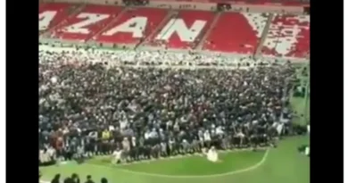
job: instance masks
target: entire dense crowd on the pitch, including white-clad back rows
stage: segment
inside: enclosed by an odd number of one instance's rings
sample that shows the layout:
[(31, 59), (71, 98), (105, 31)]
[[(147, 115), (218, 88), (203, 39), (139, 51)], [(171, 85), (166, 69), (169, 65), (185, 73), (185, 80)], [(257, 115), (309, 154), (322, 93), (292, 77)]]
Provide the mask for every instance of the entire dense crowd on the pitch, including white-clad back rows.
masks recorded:
[[(163, 62), (175, 64), (162, 67)], [(214, 69), (223, 62), (236, 67)], [(275, 137), (291, 131), (293, 80), (287, 63), (41, 49), (39, 145), (46, 159), (40, 161), (83, 162), (120, 149), (122, 162), (132, 162), (210, 146), (274, 145)]]

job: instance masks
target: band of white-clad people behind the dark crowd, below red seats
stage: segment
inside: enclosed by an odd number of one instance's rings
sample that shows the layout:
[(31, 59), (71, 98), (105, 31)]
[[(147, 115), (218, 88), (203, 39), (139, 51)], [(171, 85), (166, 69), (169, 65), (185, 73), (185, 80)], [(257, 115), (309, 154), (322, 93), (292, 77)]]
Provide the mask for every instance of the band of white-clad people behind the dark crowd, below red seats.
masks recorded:
[[(39, 52), (40, 62), (67, 63), (75, 60), (79, 62), (103, 62), (109, 66), (132, 65), (137, 67), (168, 66), (168, 67), (211, 67), (236, 68), (253, 67), (256, 65), (274, 64), (272, 61), (253, 60), (251, 56), (228, 56), (225, 54), (195, 54), (195, 52), (181, 53), (168, 51), (134, 51), (134, 50), (101, 50), (89, 48), (62, 48), (42, 45)], [(63, 55), (63, 56), (62, 56)]]

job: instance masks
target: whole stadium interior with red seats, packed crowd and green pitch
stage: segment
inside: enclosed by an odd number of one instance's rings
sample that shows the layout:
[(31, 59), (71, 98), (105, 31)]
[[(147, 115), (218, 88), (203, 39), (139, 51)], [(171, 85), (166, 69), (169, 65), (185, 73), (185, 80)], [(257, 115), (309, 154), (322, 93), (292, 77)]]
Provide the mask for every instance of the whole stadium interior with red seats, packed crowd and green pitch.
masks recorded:
[(38, 13), (40, 183), (310, 182), (309, 1)]

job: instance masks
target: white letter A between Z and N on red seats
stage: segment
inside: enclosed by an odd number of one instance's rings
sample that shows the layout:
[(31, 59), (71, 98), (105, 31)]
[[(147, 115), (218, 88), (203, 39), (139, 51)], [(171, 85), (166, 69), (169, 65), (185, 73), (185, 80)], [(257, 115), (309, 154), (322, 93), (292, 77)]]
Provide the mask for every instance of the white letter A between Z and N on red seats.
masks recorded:
[(143, 37), (143, 32), (145, 30), (147, 23), (147, 17), (134, 17), (121, 23), (120, 25), (109, 29), (104, 32), (104, 36), (112, 36), (118, 32), (129, 32), (132, 33), (133, 37)]

